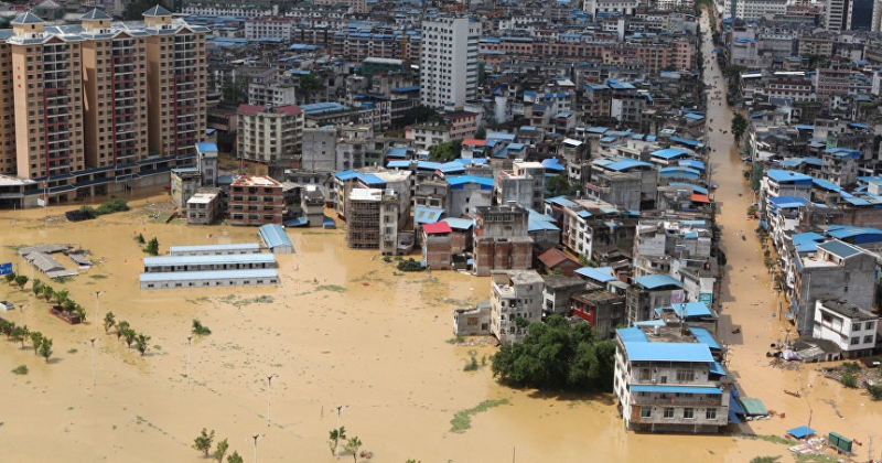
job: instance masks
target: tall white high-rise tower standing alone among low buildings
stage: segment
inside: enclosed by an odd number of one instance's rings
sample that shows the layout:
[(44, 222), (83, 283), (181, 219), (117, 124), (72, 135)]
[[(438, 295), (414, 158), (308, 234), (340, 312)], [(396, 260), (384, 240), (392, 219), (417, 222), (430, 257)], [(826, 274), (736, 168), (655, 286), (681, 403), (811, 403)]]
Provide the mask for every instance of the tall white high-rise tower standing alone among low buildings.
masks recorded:
[(469, 18), (422, 22), (420, 104), (462, 109), (477, 94), (477, 42), (481, 23)]

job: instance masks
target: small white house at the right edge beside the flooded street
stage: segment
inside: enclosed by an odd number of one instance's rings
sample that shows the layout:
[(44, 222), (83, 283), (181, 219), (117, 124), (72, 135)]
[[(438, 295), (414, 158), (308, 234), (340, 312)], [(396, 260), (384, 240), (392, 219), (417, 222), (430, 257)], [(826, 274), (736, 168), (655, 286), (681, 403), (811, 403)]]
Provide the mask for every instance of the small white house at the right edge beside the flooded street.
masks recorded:
[(879, 317), (840, 298), (820, 297), (815, 301), (811, 336), (836, 343), (842, 357), (872, 355)]

